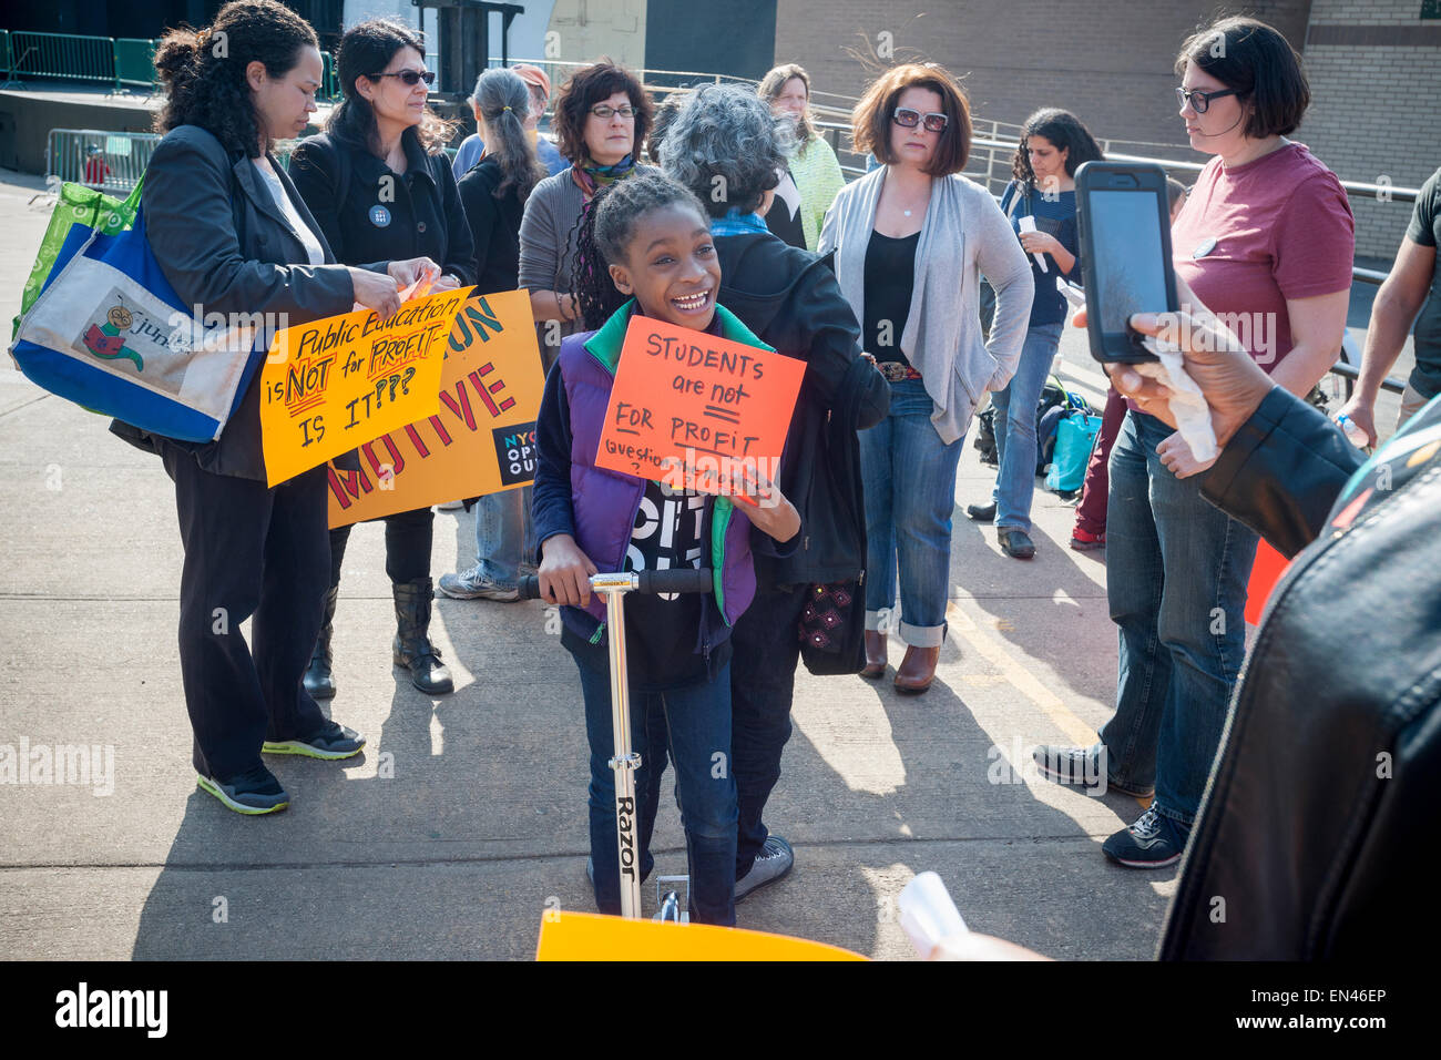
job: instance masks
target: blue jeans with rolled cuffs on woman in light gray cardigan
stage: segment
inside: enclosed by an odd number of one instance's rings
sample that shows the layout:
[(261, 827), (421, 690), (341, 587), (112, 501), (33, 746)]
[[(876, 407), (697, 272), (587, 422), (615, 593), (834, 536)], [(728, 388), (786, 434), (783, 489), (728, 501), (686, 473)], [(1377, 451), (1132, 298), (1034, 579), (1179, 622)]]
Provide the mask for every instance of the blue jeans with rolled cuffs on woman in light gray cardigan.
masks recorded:
[[(951, 513), (955, 464), (964, 438), (950, 446), (931, 425), (932, 402), (922, 379), (891, 384), (891, 414), (860, 431), (866, 489), (866, 629), (886, 622), (896, 604), (901, 568), (901, 639), (916, 648), (945, 640), (951, 597)], [(885, 611), (885, 614), (882, 614)]]

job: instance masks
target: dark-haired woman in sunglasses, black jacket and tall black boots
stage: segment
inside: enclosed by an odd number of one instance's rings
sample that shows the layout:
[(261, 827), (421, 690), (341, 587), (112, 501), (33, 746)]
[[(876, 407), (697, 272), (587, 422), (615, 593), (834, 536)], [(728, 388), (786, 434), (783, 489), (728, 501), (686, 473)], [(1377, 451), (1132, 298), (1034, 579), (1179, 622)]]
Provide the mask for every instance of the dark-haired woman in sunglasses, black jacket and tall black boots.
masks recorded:
[[(347, 264), (425, 255), (440, 262), (432, 290), (476, 281), (476, 251), (455, 177), (445, 159), (451, 128), (427, 107), (435, 75), (425, 45), (408, 26), (370, 19), (340, 39), (336, 68), (344, 100), (326, 131), (304, 140), (290, 173), (336, 251)], [(454, 691), (429, 640), (429, 508), (385, 516), (385, 570), (395, 597), (393, 662), (428, 695)], [(330, 531), (330, 591), (305, 688), (336, 694), (330, 636), (350, 526)]]

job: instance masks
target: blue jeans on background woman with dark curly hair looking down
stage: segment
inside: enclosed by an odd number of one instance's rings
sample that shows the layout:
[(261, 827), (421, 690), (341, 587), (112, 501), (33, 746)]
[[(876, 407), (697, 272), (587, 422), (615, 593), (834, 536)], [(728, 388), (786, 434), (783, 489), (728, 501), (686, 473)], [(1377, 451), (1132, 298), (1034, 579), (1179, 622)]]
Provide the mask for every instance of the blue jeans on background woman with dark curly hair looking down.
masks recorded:
[(1030, 534), (1030, 498), (1036, 492), (1036, 404), (1061, 345), (1061, 324), (1032, 324), (1020, 363), (1006, 389), (991, 394), (996, 407), (996, 528)]

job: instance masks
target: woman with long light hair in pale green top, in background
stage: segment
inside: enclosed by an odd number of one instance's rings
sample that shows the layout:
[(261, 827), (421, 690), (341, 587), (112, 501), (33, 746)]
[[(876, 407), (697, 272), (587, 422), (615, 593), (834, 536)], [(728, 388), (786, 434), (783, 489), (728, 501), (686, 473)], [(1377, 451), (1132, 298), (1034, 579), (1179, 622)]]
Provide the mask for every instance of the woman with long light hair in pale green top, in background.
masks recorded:
[(816, 130), (810, 111), (810, 74), (794, 62), (777, 66), (764, 78), (757, 94), (777, 115), (795, 123), (798, 147), (775, 187), (777, 202), (765, 215), (767, 226), (791, 247), (816, 249), (826, 211), (846, 186), (836, 151)]

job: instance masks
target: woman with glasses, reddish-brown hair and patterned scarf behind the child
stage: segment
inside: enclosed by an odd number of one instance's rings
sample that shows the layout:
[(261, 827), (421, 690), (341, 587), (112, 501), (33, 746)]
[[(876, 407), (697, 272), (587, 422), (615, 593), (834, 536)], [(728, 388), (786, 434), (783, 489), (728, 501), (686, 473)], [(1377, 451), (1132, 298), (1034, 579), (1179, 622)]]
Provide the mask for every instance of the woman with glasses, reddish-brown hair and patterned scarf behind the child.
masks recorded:
[(571, 166), (536, 185), (520, 221), (520, 286), (530, 291), (548, 368), (561, 339), (581, 329), (575, 270), (582, 213), (598, 187), (656, 172), (635, 162), (651, 114), (635, 75), (605, 59), (572, 74), (556, 97), (552, 124)]

